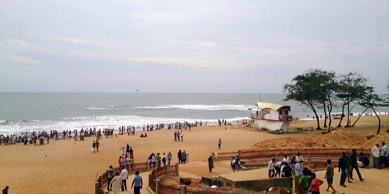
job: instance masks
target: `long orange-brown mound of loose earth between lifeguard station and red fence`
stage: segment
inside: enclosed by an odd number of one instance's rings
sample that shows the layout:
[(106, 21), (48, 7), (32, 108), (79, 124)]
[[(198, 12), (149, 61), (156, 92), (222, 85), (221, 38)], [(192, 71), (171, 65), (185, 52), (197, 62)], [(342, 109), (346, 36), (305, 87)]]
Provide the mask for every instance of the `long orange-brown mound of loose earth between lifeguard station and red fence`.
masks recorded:
[[(374, 139), (374, 138), (373, 138)], [(252, 149), (280, 149), (280, 148), (307, 148), (307, 147), (361, 147), (367, 141), (354, 132), (338, 129), (325, 135), (308, 137), (284, 137), (280, 139), (268, 139), (256, 143)], [(325, 146), (324, 146), (325, 144)], [(373, 145), (374, 146), (374, 145)], [(364, 146), (363, 146), (364, 147)]]

